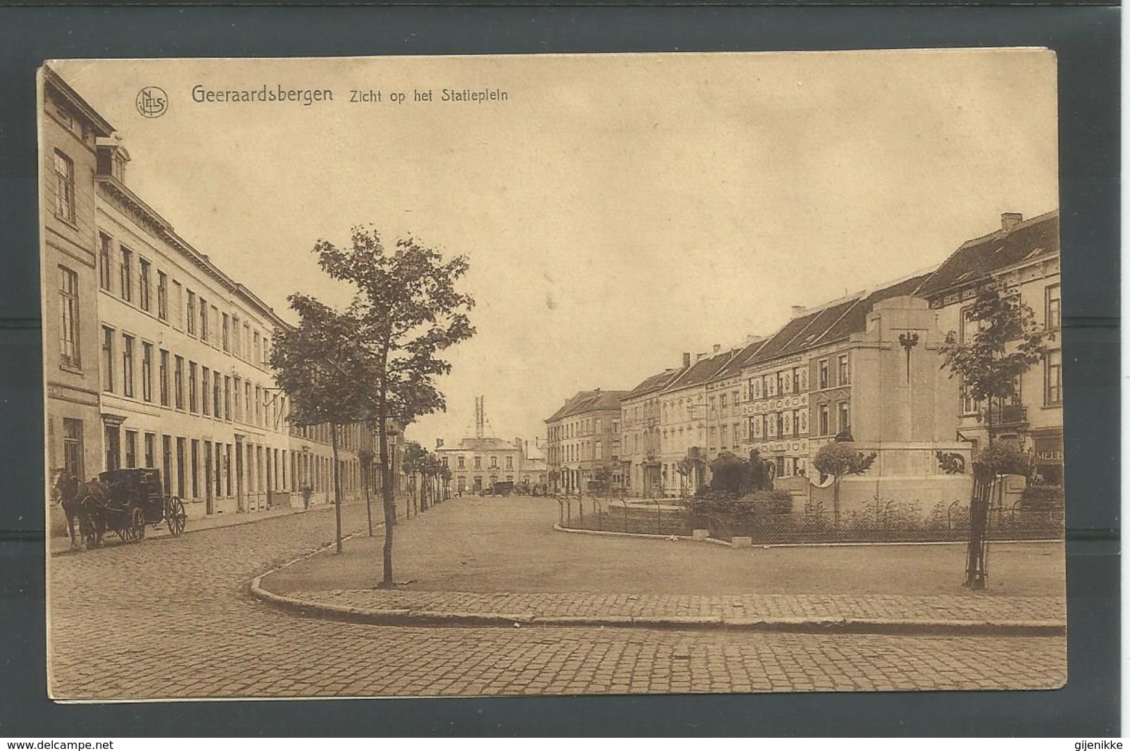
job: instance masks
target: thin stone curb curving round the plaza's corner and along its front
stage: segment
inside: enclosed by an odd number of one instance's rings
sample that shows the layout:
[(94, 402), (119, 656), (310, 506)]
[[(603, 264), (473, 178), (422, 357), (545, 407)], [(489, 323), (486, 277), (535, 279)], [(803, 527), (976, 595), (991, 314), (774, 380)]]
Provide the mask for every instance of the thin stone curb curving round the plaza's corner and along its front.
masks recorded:
[[(356, 532), (342, 540), (349, 540)], [(615, 533), (607, 533), (615, 534)], [(640, 535), (646, 536), (646, 535)], [(651, 535), (658, 536), (658, 535)], [(666, 538), (664, 538), (666, 539)], [(689, 538), (687, 538), (689, 539)], [(263, 571), (251, 579), (251, 596), (267, 605), (303, 618), (364, 623), (368, 626), (521, 628), (596, 627), (671, 630), (740, 630), (775, 634), (873, 634), (888, 636), (1064, 636), (1060, 621), (973, 621), (901, 618), (731, 618), (722, 615), (536, 615), (533, 613), (470, 613), (460, 611), (412, 610), (410, 608), (356, 608), (313, 602), (266, 590), (262, 579), (301, 560), (313, 558), (333, 543)]]

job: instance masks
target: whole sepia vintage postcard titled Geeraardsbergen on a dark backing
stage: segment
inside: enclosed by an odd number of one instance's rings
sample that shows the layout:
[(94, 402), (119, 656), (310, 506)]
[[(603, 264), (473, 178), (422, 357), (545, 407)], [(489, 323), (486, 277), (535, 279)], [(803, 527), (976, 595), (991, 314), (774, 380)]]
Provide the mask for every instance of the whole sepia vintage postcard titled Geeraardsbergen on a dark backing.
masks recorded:
[(1055, 75), (47, 61), (52, 697), (1063, 685)]

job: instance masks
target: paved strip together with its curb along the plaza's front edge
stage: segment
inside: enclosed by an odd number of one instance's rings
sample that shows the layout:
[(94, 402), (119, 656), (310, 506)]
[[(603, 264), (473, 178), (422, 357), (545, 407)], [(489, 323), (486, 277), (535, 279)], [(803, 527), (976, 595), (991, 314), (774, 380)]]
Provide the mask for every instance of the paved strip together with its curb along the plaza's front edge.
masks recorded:
[(377, 625), (733, 628), (818, 634), (1061, 636), (1057, 597), (944, 595), (594, 595), (588, 593), (385, 592), (252, 593), (306, 615)]

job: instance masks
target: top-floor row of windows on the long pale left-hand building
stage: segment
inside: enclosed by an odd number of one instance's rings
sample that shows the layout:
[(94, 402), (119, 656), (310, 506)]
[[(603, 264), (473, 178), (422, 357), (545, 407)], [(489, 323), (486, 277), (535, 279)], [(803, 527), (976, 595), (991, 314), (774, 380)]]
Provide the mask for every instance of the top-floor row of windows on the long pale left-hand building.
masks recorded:
[(98, 283), (103, 289), (113, 292), (116, 282), (123, 302), (228, 355), (263, 369), (269, 367), (271, 340), (251, 323), (235, 313), (220, 312), (176, 279), (169, 279), (164, 271), (156, 271), (154, 290), (154, 268), (148, 259), (137, 255), (134, 269), (134, 253), (123, 243), (118, 244), (116, 255), (119, 273), (114, 274), (114, 239), (98, 233)]

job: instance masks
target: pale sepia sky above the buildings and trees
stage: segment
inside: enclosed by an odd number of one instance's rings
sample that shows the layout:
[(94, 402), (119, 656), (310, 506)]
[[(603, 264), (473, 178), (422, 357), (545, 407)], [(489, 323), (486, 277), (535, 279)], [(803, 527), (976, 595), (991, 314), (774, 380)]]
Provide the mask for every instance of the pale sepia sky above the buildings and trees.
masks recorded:
[[(469, 256), (478, 334), (449, 350), (447, 412), (409, 429), (428, 447), (466, 435), (478, 394), (494, 435), (532, 446), (581, 388), (631, 388), (1058, 206), (1046, 51), (52, 66), (118, 129), (130, 187), (284, 317), (293, 291), (346, 299), (310, 250), (357, 224)], [(333, 101), (194, 103), (197, 84)], [(163, 116), (138, 113), (145, 86)]]

